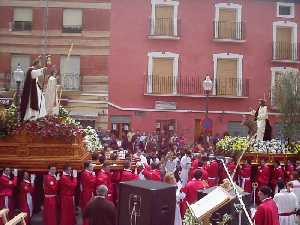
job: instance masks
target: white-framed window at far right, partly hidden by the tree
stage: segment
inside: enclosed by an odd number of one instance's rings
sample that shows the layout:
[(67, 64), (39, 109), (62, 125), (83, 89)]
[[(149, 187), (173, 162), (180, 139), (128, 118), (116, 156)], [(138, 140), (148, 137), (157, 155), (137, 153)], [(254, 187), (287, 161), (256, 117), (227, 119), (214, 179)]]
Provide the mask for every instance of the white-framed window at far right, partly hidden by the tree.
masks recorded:
[(281, 78), (289, 74), (296, 74), (299, 72), (296, 68), (291, 67), (272, 67), (272, 81), (271, 81), (271, 106), (276, 108), (276, 90), (280, 88)]

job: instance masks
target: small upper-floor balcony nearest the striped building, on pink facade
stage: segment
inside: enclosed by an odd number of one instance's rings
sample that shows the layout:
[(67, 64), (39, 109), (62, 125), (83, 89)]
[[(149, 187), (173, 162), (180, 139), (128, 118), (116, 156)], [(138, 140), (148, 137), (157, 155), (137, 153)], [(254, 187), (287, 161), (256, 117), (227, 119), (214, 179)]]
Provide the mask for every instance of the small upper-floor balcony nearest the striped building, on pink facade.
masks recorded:
[(149, 39), (179, 39), (178, 19), (174, 21), (174, 18), (150, 18), (149, 24)]

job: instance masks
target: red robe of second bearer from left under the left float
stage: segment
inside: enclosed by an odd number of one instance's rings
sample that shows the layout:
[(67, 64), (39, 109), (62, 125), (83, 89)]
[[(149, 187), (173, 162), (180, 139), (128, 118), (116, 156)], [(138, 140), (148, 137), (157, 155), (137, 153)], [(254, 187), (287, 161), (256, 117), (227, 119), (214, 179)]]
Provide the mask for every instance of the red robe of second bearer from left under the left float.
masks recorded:
[(22, 212), (27, 213), (25, 217), (26, 223), (29, 224), (33, 212), (33, 200), (32, 200), (33, 186), (29, 180), (23, 180), (20, 183), (20, 192), (18, 195), (19, 209)]

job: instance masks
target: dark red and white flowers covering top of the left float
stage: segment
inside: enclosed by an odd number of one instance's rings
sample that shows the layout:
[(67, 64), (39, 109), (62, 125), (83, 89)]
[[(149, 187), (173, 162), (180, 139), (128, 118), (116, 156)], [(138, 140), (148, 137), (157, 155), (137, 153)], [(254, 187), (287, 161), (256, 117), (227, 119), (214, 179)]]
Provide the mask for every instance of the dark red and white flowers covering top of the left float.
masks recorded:
[(3, 132), (0, 137), (7, 136), (20, 137), (22, 135), (40, 137), (44, 141), (49, 139), (63, 139), (72, 141), (83, 139), (87, 150), (91, 153), (102, 148), (97, 132), (92, 127), (84, 129), (79, 122), (70, 117), (69, 112), (59, 107), (58, 115), (48, 115), (37, 120), (18, 122), (17, 109), (11, 105), (0, 115), (1, 127)]

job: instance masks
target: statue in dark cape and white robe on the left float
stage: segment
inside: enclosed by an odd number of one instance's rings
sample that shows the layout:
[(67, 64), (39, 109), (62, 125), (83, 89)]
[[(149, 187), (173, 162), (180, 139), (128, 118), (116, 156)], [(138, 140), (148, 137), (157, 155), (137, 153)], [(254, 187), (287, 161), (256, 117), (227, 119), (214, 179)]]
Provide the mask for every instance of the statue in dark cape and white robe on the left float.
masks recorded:
[(47, 115), (45, 98), (38, 83), (38, 77), (45, 75), (46, 70), (47, 67), (41, 68), (40, 59), (37, 59), (26, 73), (21, 96), (21, 121), (36, 120)]

